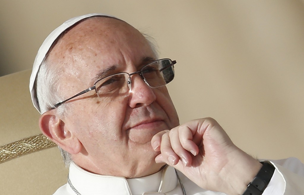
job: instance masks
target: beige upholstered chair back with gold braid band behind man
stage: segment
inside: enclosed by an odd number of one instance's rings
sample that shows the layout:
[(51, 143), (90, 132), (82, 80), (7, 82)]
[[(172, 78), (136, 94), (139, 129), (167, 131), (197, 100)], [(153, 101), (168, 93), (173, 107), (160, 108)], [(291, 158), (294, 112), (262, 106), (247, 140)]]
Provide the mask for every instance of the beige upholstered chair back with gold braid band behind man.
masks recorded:
[(40, 114), (28, 89), (30, 73), (0, 77), (1, 194), (53, 194), (66, 183), (68, 170), (58, 148), (39, 130)]

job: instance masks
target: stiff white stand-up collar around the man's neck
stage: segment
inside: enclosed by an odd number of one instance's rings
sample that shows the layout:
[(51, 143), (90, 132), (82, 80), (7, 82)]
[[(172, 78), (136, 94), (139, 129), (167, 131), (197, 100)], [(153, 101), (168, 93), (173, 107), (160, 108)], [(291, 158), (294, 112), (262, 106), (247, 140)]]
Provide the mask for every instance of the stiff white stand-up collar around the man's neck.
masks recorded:
[[(69, 178), (81, 195), (121, 194), (141, 195), (144, 192), (166, 193), (177, 186), (175, 170), (171, 166), (149, 176), (126, 179), (98, 175), (83, 170), (75, 163), (70, 164)], [(67, 191), (75, 194), (67, 185)]]

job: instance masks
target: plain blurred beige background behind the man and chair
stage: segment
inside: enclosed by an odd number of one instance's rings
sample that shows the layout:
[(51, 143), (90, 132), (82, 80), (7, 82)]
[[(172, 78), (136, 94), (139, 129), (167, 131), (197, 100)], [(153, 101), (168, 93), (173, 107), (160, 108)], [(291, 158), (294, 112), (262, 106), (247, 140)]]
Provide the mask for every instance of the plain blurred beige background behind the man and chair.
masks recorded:
[(177, 60), (168, 88), (181, 123), (211, 116), (254, 156), (304, 161), (303, 11), (301, 0), (2, 0), (0, 72), (30, 69), (44, 38), (68, 18), (115, 15)]

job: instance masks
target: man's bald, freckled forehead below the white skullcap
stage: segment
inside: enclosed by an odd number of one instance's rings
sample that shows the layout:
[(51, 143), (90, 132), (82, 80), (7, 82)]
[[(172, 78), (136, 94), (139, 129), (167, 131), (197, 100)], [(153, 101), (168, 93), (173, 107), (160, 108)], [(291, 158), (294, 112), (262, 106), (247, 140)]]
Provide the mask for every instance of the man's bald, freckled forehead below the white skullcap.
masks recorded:
[(48, 59), (55, 61), (65, 76), (85, 73), (92, 78), (101, 69), (136, 64), (146, 57), (153, 58), (154, 53), (137, 29), (118, 19), (94, 17), (66, 32)]

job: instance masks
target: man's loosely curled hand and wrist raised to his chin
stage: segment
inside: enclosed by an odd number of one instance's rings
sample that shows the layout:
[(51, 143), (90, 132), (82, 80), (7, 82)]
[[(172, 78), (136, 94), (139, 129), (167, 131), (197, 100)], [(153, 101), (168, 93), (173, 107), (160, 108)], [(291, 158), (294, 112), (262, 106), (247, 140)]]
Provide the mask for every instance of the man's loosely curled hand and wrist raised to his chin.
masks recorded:
[(167, 163), (203, 189), (242, 194), (261, 163), (235, 146), (212, 118), (164, 130), (151, 140), (156, 163)]

